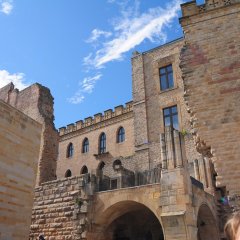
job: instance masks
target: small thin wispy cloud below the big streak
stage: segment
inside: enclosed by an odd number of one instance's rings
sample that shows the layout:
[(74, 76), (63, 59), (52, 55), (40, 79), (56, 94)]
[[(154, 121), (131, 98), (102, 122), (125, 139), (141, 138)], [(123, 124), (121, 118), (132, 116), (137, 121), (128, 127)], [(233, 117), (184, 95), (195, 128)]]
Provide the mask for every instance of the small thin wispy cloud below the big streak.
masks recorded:
[(72, 104), (79, 104), (85, 99), (85, 94), (92, 93), (96, 82), (102, 77), (101, 73), (97, 73), (93, 77), (86, 77), (83, 81), (79, 82), (79, 89), (78, 91), (71, 97), (68, 98), (68, 102)]

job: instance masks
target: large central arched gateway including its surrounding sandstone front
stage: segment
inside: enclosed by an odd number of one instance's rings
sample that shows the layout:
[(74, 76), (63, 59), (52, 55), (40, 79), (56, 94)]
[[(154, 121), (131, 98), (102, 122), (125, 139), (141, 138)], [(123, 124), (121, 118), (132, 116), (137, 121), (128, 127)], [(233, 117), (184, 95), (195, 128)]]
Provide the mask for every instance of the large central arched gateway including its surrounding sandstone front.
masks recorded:
[(159, 184), (96, 194), (88, 240), (164, 240)]

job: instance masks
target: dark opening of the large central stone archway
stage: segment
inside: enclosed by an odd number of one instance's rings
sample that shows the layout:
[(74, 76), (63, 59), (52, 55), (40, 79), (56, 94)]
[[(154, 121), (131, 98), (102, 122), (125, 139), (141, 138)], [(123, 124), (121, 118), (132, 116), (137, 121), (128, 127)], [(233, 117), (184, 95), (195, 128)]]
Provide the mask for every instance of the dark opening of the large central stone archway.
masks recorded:
[(158, 218), (147, 206), (123, 201), (106, 209), (88, 239), (164, 240), (164, 235)]

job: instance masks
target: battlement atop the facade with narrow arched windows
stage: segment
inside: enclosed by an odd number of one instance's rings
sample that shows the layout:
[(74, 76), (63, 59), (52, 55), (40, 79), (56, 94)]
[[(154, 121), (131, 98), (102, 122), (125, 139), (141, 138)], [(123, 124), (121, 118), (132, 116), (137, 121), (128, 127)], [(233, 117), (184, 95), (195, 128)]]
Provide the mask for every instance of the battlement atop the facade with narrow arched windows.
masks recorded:
[(112, 109), (108, 109), (104, 111), (104, 114), (97, 113), (94, 115), (94, 117), (90, 116), (85, 118), (84, 120), (79, 120), (76, 123), (68, 124), (66, 127), (59, 128), (58, 130), (59, 135), (62, 136), (70, 132), (74, 132), (79, 129), (83, 129), (83, 128), (92, 126), (94, 124), (112, 119), (122, 114), (132, 112), (132, 107), (133, 107), (133, 102), (130, 101), (125, 104), (125, 107), (123, 105), (119, 105), (114, 108), (114, 111)]

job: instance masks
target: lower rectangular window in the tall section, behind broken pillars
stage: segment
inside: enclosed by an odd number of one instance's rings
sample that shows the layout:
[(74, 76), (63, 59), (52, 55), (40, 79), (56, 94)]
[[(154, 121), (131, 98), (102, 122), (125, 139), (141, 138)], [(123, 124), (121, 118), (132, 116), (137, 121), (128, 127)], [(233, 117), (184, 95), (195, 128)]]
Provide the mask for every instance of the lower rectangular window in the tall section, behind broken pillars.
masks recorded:
[(174, 129), (179, 129), (177, 106), (164, 108), (163, 117), (165, 127), (172, 126)]

